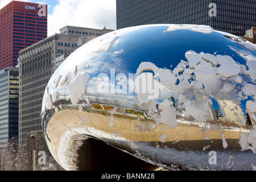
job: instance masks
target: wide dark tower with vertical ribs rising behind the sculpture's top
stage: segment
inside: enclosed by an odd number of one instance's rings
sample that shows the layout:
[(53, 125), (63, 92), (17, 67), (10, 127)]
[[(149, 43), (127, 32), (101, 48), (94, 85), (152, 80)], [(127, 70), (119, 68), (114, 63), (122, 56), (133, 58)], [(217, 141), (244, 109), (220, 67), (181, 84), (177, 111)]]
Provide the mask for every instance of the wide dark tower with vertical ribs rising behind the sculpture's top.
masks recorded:
[(237, 36), (256, 26), (255, 0), (117, 0), (117, 29), (143, 24), (204, 24)]

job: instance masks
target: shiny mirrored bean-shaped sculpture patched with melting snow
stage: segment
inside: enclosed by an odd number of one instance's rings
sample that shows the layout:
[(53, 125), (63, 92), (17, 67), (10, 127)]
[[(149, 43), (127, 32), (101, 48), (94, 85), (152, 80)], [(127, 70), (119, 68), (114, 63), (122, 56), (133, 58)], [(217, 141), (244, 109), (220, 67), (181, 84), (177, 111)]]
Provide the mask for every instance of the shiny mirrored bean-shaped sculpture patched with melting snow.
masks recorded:
[(123, 28), (72, 53), (42, 126), (67, 170), (252, 170), (256, 45), (209, 26)]

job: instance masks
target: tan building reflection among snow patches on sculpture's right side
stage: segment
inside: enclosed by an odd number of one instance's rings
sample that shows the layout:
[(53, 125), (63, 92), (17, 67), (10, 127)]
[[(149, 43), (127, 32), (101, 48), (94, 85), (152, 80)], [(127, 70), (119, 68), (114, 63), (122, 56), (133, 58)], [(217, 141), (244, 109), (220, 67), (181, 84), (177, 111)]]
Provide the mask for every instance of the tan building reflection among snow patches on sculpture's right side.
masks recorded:
[(220, 106), (223, 115), (223, 117), (219, 117), (220, 121), (228, 121), (230, 123), (242, 125), (243, 115), (241, 115), (241, 113), (243, 113), (243, 111), (239, 105), (229, 100), (219, 100), (218, 105)]

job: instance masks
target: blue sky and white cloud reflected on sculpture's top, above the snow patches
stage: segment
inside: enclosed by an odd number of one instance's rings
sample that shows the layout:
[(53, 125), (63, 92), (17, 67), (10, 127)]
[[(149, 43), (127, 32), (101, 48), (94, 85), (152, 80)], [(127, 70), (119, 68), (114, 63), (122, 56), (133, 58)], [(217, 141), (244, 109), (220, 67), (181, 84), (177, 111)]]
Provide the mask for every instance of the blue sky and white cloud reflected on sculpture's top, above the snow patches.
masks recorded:
[[(134, 30), (130, 34), (122, 34), (122, 31), (117, 31), (116, 35), (119, 36), (119, 39), (114, 46), (108, 52), (95, 53), (94, 48), (100, 45), (100, 40), (104, 39), (104, 36), (108, 37), (109, 34), (113, 34), (113, 32), (102, 35), (103, 37), (100, 36), (90, 41), (72, 53), (61, 64), (63, 66), (62, 72), (75, 65), (82, 65), (85, 68), (88, 64), (89, 74), (94, 72), (97, 75), (109, 73), (112, 68), (115, 69), (116, 73), (136, 73), (139, 64), (144, 61), (150, 61), (159, 68), (171, 69), (171, 65), (172, 68), (175, 68), (181, 59), (185, 60), (185, 52), (189, 50), (211, 54), (218, 51), (218, 55), (238, 56), (234, 50), (225, 44), (225, 40), (226, 42), (233, 40), (223, 39), (218, 32), (212, 34), (188, 30), (164, 32), (167, 28), (168, 26), (151, 26), (145, 30)], [(235, 42), (233, 47), (237, 47)], [(241, 59), (237, 60), (241, 61)]]

